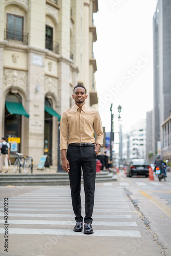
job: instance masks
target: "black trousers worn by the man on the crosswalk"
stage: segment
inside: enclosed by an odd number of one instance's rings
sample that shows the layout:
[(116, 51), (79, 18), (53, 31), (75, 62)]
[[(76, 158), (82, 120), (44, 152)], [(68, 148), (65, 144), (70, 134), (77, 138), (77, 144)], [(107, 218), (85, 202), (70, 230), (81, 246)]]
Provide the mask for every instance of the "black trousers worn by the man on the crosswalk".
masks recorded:
[(93, 146), (79, 147), (69, 146), (67, 150), (67, 160), (70, 164), (70, 188), (72, 206), (75, 214), (75, 220), (83, 221), (81, 215), (81, 167), (83, 170), (84, 191), (85, 191), (85, 223), (92, 223), (92, 214), (94, 206), (94, 191), (96, 179), (96, 153)]

